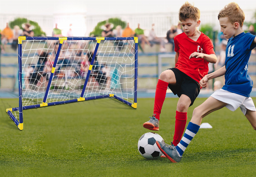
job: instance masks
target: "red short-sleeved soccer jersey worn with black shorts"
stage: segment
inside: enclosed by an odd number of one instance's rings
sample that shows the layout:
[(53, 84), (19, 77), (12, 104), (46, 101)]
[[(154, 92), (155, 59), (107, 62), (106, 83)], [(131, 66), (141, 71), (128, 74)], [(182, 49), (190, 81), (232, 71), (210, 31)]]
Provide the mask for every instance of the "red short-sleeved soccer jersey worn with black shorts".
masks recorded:
[(201, 33), (197, 41), (190, 39), (184, 32), (175, 36), (175, 52), (179, 52), (179, 58), (175, 68), (185, 73), (195, 81), (199, 81), (208, 74), (209, 62), (204, 58), (190, 58), (193, 52), (215, 54), (210, 38)]

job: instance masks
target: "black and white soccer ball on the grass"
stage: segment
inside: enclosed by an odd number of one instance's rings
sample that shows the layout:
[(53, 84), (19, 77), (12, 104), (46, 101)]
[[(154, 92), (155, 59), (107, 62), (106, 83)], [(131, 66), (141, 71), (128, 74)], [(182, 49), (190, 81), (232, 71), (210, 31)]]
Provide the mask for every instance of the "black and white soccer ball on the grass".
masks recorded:
[(140, 137), (138, 142), (138, 150), (146, 159), (157, 159), (163, 153), (157, 147), (156, 141), (164, 142), (163, 138), (157, 133), (145, 133)]

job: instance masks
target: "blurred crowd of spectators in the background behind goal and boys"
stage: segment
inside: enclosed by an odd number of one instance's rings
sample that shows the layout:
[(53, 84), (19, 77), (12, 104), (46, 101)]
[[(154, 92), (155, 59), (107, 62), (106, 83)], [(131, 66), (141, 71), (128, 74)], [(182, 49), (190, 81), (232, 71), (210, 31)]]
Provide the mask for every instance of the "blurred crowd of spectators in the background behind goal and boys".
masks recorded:
[[(19, 26), (14, 26), (13, 29), (9, 27), (9, 24), (6, 23), (6, 28), (4, 28), (0, 34), (1, 34), (1, 41), (0, 41), (0, 47), (1, 52), (5, 52), (6, 45), (11, 45), (12, 49), (15, 51), (17, 50), (18, 46), (18, 37), (19, 36), (34, 36), (34, 32), (32, 31), (31, 25), (29, 23), (24, 23), (22, 25), (23, 29), (20, 29)], [(146, 31), (146, 32), (145, 32)], [(255, 29), (253, 25), (250, 25), (248, 32), (250, 32), (253, 35), (256, 35)], [(146, 34), (145, 34), (146, 33)], [(141, 29), (140, 23), (138, 23), (136, 29), (131, 29), (130, 24), (127, 23), (126, 27), (122, 29), (122, 26), (118, 25), (113, 29), (113, 24), (106, 23), (103, 26), (102, 31), (102, 37), (137, 37), (139, 47), (142, 52), (144, 52), (145, 45), (148, 45), (149, 49), (150, 47), (157, 44), (159, 46), (159, 52), (174, 52), (174, 37), (176, 35), (179, 35), (183, 33), (183, 29), (181, 26), (181, 23), (178, 23), (177, 26), (171, 26), (170, 29), (166, 32), (166, 37), (158, 37), (155, 32), (155, 24), (153, 23), (151, 26), (151, 29)], [(67, 36), (67, 37), (73, 37), (72, 32), (72, 24), (70, 24), (70, 28), (67, 31), (66, 35), (62, 34), (62, 30), (58, 29), (58, 24), (55, 24), (55, 28), (52, 30), (52, 36), (53, 37), (61, 37), (61, 36)], [(121, 51), (122, 48), (124, 48), (125, 45), (131, 45), (133, 44), (133, 40), (116, 40), (116, 42), (113, 43), (116, 51)], [(166, 44), (171, 44), (168, 49), (166, 49)], [(53, 45), (53, 44), (51, 44)], [(62, 46), (62, 52), (58, 59), (58, 67), (70, 67), (69, 70), (74, 70), (73, 73), (63, 73), (64, 70), (61, 68), (56, 68), (57, 73), (59, 77), (86, 77), (90, 62), (92, 60), (93, 51), (84, 53), (83, 46), (81, 44), (76, 44), (77, 46), (74, 46), (74, 49), (72, 52), (71, 50), (68, 50), (69, 43), (65, 42)], [(227, 47), (227, 39), (224, 37), (222, 32), (218, 32), (217, 35), (217, 42), (215, 42), (215, 47), (217, 46), (217, 50), (215, 48), (215, 52), (217, 54), (218, 60), (216, 64), (209, 64), (209, 73), (213, 72), (214, 70), (219, 69), (220, 67), (223, 67), (225, 64), (225, 51)], [(49, 80), (49, 75), (52, 70), (52, 62), (55, 57), (55, 54), (58, 50), (58, 42), (54, 44), (54, 46), (51, 46), (53, 49), (52, 52), (45, 52), (42, 50), (38, 50), (37, 54), (39, 56), (38, 63), (33, 66), (27, 68), (29, 73), (28, 75), (24, 76), (26, 82), (32, 85), (38, 85), (42, 84), (44, 80)], [(255, 54), (256, 50), (253, 49), (252, 53)], [(85, 58), (83, 61), (80, 61), (79, 58)], [(74, 65), (76, 63), (76, 65)], [(113, 77), (116, 77), (116, 75), (113, 75), (116, 71), (111, 71), (110, 67), (107, 66), (107, 64), (97, 64), (97, 54), (96, 58), (93, 64), (93, 73), (90, 75), (90, 82), (96, 83), (94, 86), (98, 87), (98, 84), (107, 84), (108, 89), (111, 87), (109, 82)], [(74, 68), (72, 68), (74, 67)], [(31, 70), (32, 72), (29, 72)], [(33, 74), (34, 73), (34, 74)], [(112, 73), (112, 75), (109, 75), (108, 73)], [(215, 81), (215, 83), (212, 83), (214, 85), (215, 89), (220, 89), (224, 85), (224, 77), (222, 77), (220, 80)], [(211, 87), (211, 86), (210, 86)], [(209, 88), (209, 87), (208, 87)]]

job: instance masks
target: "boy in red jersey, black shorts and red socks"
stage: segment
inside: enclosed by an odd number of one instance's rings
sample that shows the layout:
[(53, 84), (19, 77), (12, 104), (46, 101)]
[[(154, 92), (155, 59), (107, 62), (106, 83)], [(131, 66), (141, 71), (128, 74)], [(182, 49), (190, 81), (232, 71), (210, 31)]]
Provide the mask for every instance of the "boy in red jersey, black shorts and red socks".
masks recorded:
[(161, 73), (157, 82), (154, 101), (154, 114), (143, 124), (149, 130), (159, 130), (160, 113), (169, 87), (180, 97), (175, 116), (175, 134), (172, 145), (176, 146), (183, 135), (187, 110), (200, 92), (199, 81), (208, 73), (208, 63), (216, 63), (217, 57), (213, 51), (212, 41), (198, 31), (200, 11), (186, 2), (180, 7), (179, 20), (183, 33), (175, 36), (175, 68)]

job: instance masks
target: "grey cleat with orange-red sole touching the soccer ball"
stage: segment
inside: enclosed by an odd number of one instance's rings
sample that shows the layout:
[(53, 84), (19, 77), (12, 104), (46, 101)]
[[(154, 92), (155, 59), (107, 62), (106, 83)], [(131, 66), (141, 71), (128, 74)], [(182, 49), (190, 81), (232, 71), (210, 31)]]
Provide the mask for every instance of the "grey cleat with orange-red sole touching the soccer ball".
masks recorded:
[(164, 142), (157, 141), (157, 147), (160, 149), (160, 151), (172, 162), (180, 162), (182, 156), (180, 157), (178, 155), (178, 152), (176, 150), (176, 147), (172, 145), (168, 145)]

